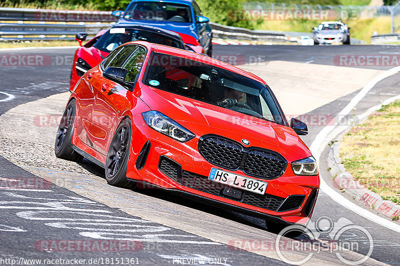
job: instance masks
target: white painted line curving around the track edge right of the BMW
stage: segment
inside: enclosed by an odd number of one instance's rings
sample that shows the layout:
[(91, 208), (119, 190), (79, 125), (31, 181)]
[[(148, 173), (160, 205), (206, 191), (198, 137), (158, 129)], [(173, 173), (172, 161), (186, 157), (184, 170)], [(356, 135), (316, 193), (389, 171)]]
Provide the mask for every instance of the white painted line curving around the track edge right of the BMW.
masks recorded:
[[(314, 158), (317, 162), (319, 162), (319, 158), (321, 156), (321, 153), (325, 147), (325, 144), (328, 143), (328, 140), (326, 138), (328, 137), (329, 133), (333, 131), (333, 129), (340, 123), (342, 118), (347, 115), (352, 108), (354, 108), (359, 101), (368, 93), (368, 91), (373, 88), (376, 83), (379, 81), (396, 74), (397, 72), (400, 71), (400, 66), (393, 67), (389, 70), (386, 70), (385, 72), (381, 73), (374, 79), (372, 79), (365, 87), (363, 87), (352, 99), (351, 101), (344, 107), (334, 118), (335, 123), (331, 126), (325, 126), (315, 137), (314, 141), (312, 142), (310, 146), (311, 153), (314, 155)], [(324, 192), (327, 196), (329, 196), (333, 201), (337, 202), (338, 204), (342, 205), (343, 207), (347, 208), (348, 210), (358, 214), (359, 216), (362, 216), (365, 219), (368, 219), (371, 222), (374, 222), (376, 224), (379, 224), (383, 227), (386, 227), (388, 229), (391, 229), (395, 232), (400, 233), (400, 226), (396, 225), (382, 217), (379, 217), (361, 207), (358, 205), (355, 205), (351, 201), (347, 200), (343, 196), (341, 196), (339, 193), (337, 193), (335, 190), (333, 190), (331, 187), (326, 184), (326, 182), (321, 178), (320, 179), (320, 189), (322, 192)]]

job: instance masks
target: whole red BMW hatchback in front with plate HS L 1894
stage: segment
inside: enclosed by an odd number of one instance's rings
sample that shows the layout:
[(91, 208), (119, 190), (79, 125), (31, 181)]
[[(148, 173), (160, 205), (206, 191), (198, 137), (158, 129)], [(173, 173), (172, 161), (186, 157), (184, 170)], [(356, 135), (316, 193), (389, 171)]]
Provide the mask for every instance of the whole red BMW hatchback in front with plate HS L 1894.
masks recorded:
[(259, 77), (201, 54), (125, 43), (82, 75), (61, 119), (55, 155), (105, 169), (110, 185), (150, 184), (214, 207), (306, 224), (316, 162)]

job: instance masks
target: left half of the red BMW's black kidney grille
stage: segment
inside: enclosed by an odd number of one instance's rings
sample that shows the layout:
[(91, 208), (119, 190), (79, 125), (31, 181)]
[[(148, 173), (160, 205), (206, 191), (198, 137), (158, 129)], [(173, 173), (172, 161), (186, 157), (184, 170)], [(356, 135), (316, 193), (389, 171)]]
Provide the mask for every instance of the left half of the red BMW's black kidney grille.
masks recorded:
[(203, 139), (199, 152), (208, 162), (227, 169), (237, 169), (243, 156), (240, 145), (218, 137)]

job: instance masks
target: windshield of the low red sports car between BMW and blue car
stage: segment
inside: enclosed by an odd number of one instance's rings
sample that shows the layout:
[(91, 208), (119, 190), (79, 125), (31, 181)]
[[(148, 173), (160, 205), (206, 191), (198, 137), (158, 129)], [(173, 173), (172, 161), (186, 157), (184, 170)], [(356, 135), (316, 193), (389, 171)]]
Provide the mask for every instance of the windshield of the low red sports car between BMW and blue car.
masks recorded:
[(182, 42), (164, 34), (123, 27), (110, 28), (93, 46), (102, 51), (110, 52), (119, 45), (134, 40), (144, 40), (184, 49)]

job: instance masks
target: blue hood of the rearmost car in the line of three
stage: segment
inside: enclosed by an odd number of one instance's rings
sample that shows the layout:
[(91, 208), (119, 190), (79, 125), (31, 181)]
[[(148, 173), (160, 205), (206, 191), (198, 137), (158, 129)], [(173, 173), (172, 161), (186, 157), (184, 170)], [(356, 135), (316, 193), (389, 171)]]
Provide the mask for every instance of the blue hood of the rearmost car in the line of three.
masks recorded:
[(137, 19), (120, 19), (116, 25), (118, 24), (132, 24), (132, 25), (147, 25), (153, 27), (159, 27), (163, 29), (167, 29), (170, 31), (174, 31), (177, 33), (183, 33), (190, 36), (193, 36), (198, 40), (198, 35), (195, 32), (194, 26), (192, 23), (185, 22), (173, 22), (173, 21), (155, 21), (155, 20), (137, 20)]

